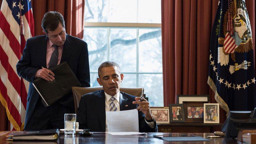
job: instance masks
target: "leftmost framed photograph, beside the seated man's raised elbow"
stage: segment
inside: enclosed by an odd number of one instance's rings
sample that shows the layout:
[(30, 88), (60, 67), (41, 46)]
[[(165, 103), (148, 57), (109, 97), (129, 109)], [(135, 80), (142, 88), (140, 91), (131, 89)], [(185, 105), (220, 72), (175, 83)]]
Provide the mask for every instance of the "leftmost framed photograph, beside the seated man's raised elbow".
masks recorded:
[(156, 123), (170, 123), (168, 107), (150, 107), (150, 111)]

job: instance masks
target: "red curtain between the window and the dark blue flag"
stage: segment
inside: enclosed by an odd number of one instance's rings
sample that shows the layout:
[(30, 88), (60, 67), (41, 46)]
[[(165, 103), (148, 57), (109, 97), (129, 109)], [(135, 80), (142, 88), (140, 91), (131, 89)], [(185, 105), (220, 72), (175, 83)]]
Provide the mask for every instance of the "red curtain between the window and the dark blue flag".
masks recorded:
[[(211, 28), (219, 0), (162, 0), (164, 106), (177, 94), (209, 94), (207, 84)], [(255, 48), (255, 1), (246, 1)], [(225, 111), (220, 110), (220, 122)]]

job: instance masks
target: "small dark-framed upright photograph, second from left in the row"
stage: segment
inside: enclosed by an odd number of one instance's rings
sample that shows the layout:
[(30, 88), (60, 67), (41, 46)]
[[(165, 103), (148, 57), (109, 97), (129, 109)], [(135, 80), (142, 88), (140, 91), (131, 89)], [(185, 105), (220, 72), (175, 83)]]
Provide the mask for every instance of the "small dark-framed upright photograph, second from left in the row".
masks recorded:
[(169, 104), (170, 122), (184, 122), (184, 107), (183, 104)]

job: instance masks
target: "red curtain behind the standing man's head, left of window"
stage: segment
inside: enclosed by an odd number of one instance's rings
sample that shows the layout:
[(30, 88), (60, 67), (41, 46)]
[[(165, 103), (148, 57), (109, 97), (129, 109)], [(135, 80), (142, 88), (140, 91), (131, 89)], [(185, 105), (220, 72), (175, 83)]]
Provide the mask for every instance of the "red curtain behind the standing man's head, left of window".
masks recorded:
[[(0, 0), (0, 6), (3, 0)], [(60, 12), (65, 20), (66, 33), (83, 39), (84, 0), (32, 0), (35, 36), (42, 35), (41, 22), (48, 11)], [(0, 104), (0, 131), (10, 130), (6, 110)]]

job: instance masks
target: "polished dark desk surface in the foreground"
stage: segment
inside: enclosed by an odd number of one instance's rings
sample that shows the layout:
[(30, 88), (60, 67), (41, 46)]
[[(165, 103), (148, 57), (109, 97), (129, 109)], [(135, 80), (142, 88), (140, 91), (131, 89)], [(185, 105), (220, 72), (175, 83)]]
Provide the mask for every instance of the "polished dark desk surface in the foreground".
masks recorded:
[[(7, 143), (6, 141), (6, 135), (8, 135), (9, 132), (0, 132), (0, 143)], [(184, 133), (148, 133), (147, 135), (126, 135), (126, 136), (117, 136), (117, 135), (110, 135), (106, 133), (100, 133), (96, 132), (93, 133), (92, 136), (89, 137), (83, 137), (76, 135), (75, 138), (71, 137), (64, 137), (63, 133), (60, 133), (60, 137), (58, 141), (52, 141), (52, 142), (24, 142), (24, 141), (14, 141), (13, 143), (44, 143), (44, 144), (50, 144), (50, 143), (177, 143), (177, 142), (168, 142), (164, 141), (160, 138), (155, 138), (153, 135), (168, 135), (168, 134), (184, 134)], [(213, 133), (187, 133), (190, 135), (197, 135), (202, 136), (204, 138), (207, 138), (209, 135), (213, 135)], [(10, 142), (9, 142), (10, 143)], [(180, 142), (179, 142), (180, 143)], [(241, 143), (237, 142), (236, 140), (229, 140), (225, 138), (214, 138), (211, 139), (211, 141), (195, 141), (195, 142), (182, 142), (182, 143)]]

